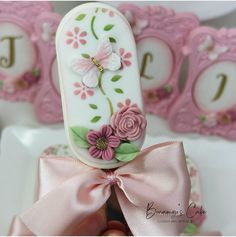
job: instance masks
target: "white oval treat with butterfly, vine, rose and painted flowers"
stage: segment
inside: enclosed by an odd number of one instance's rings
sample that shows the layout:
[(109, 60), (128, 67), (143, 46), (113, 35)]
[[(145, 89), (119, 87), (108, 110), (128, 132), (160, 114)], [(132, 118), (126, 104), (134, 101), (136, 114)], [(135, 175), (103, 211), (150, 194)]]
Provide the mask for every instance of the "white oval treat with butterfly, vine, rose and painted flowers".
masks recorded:
[(72, 152), (104, 169), (134, 159), (146, 119), (136, 45), (125, 17), (101, 3), (78, 6), (59, 25), (56, 49)]

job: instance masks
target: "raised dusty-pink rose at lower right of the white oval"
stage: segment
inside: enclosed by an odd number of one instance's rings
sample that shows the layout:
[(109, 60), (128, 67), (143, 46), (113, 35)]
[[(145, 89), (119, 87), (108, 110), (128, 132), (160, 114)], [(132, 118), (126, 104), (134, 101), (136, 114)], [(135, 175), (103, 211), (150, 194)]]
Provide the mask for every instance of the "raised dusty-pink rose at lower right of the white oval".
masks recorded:
[(147, 121), (137, 105), (124, 106), (111, 117), (114, 134), (121, 140), (135, 141), (143, 136)]

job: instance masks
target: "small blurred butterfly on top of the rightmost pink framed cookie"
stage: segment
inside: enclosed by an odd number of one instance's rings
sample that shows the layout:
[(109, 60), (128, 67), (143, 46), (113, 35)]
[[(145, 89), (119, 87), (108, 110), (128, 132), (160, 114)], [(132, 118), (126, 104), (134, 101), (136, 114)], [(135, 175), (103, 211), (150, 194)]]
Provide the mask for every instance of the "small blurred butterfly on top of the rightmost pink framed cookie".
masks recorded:
[(217, 46), (210, 35), (199, 45), (198, 51), (207, 53), (209, 60), (216, 60), (222, 53), (228, 51), (226, 46)]

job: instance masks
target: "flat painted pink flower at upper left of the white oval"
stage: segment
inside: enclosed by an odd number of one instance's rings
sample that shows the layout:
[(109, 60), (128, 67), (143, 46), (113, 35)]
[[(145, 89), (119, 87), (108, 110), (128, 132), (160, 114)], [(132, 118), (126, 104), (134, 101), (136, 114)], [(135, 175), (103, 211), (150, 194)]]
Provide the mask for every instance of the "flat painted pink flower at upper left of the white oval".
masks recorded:
[(83, 39), (86, 35), (87, 32), (86, 31), (80, 31), (79, 27), (75, 27), (74, 31), (68, 31), (66, 33), (67, 35), (67, 40), (66, 40), (66, 44), (72, 44), (74, 49), (77, 49), (79, 47), (79, 43), (81, 44), (86, 44), (87, 41), (85, 39)]

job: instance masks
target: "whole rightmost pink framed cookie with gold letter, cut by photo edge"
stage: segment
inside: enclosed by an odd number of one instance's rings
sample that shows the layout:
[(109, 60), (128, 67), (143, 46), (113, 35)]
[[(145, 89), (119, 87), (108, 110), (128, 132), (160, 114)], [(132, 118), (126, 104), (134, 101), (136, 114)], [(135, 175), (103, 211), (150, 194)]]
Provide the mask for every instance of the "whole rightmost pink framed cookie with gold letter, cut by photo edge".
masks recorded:
[(235, 29), (200, 27), (191, 33), (187, 85), (169, 115), (174, 131), (236, 140), (235, 41)]

